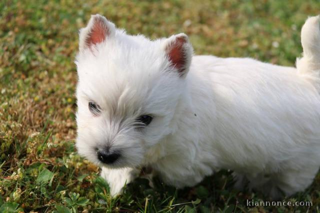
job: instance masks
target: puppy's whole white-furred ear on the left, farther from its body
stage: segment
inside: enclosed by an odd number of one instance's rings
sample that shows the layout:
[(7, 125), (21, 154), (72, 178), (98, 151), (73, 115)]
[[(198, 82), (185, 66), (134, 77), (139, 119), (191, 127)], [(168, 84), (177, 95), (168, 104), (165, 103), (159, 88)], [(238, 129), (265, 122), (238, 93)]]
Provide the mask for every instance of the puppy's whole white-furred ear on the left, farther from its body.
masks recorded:
[(79, 51), (92, 48), (94, 45), (102, 43), (107, 37), (114, 35), (115, 26), (104, 16), (95, 14), (86, 27), (81, 28), (79, 32)]

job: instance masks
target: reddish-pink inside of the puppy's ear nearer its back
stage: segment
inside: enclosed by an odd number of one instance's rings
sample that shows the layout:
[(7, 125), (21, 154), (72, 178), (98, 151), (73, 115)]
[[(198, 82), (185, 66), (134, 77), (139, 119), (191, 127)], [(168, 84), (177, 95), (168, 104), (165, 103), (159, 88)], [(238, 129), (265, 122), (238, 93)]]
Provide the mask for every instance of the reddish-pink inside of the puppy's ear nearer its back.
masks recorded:
[(185, 39), (182, 37), (176, 38), (168, 51), (169, 60), (172, 62), (172, 65), (178, 69), (178, 72), (184, 71), (183, 66), (186, 63), (186, 57), (183, 51), (183, 44), (185, 42)]

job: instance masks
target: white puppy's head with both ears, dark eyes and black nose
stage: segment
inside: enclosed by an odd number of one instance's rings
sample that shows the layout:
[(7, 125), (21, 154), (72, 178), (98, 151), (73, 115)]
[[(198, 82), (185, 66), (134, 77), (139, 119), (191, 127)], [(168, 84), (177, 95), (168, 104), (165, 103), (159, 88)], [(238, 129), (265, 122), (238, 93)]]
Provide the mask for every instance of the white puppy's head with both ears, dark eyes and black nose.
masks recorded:
[(192, 56), (188, 38), (127, 35), (100, 15), (79, 37), (77, 150), (100, 166), (140, 166), (172, 132)]

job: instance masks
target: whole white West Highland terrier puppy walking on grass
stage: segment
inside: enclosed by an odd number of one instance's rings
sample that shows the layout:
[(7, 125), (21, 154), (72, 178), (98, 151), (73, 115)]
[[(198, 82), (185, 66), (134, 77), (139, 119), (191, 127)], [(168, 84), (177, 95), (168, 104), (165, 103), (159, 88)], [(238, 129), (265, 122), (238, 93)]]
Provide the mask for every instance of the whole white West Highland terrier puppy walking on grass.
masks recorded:
[(183, 34), (128, 35), (101, 15), (79, 33), (80, 155), (112, 196), (152, 168), (177, 188), (219, 169), (273, 199), (307, 188), (320, 166), (320, 17), (302, 27), (296, 68), (195, 56)]

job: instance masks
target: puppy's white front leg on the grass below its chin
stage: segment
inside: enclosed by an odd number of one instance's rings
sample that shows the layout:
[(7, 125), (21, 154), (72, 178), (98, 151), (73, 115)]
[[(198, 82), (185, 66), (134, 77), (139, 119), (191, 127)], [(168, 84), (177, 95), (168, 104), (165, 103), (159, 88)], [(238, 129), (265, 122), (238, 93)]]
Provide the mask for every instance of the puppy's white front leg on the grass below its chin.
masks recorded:
[(138, 175), (139, 170), (132, 168), (108, 169), (102, 167), (101, 177), (106, 180), (110, 187), (112, 197), (122, 193), (125, 184), (132, 182)]

